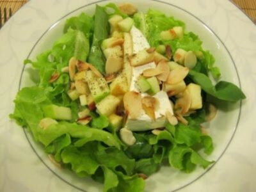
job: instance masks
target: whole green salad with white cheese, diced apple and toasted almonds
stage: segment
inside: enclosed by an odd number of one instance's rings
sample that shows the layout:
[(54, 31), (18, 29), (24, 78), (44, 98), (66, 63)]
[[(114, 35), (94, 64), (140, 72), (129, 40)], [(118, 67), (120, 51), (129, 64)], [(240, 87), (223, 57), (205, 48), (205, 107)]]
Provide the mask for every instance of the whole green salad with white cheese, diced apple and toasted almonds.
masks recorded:
[(106, 192), (143, 191), (163, 163), (207, 168), (214, 161), (201, 154), (214, 147), (202, 124), (217, 111), (209, 97), (245, 98), (235, 84), (212, 84), (220, 70), (184, 22), (130, 3), (67, 19), (52, 49), (24, 64), (40, 80), (17, 93), (10, 118), (52, 163)]

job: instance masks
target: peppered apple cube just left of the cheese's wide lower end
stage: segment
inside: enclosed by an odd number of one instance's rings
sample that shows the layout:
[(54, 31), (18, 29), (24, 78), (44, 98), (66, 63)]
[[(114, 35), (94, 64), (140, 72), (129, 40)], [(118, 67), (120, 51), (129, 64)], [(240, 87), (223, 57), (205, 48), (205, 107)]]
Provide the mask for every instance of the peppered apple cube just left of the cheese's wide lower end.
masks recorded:
[(108, 95), (96, 104), (96, 108), (100, 114), (109, 116), (112, 113), (115, 113), (116, 108), (119, 104), (120, 100), (118, 99), (118, 97), (115, 97), (114, 95)]

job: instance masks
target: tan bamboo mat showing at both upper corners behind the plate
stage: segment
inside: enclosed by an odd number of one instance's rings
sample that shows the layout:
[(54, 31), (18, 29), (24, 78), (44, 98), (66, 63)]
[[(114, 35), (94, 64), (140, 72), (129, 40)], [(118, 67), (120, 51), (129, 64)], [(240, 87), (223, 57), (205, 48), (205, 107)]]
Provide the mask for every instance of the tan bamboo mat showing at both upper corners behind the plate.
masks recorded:
[[(246, 15), (248, 15), (256, 23), (256, 0), (232, 0), (237, 6), (239, 6)], [(2, 9), (1, 19), (3, 20), (3, 8), (12, 9), (12, 14), (17, 12), (19, 8), (27, 3), (28, 0), (0, 0), (0, 8)]]

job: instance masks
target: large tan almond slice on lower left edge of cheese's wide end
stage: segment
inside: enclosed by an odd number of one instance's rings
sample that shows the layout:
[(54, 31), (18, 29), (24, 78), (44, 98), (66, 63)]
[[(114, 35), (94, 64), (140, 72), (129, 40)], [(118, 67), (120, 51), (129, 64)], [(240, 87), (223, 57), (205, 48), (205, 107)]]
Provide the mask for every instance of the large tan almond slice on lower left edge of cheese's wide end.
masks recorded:
[(141, 95), (137, 92), (127, 92), (124, 95), (124, 108), (133, 119), (138, 118), (142, 112)]

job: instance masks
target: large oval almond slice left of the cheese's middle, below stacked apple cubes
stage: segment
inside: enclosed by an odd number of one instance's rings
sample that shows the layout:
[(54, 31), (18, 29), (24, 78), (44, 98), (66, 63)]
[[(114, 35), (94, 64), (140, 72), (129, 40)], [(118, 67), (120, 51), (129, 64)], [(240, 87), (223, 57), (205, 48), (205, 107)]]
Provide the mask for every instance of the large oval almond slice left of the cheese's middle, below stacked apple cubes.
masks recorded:
[(106, 74), (113, 74), (120, 71), (124, 66), (124, 59), (115, 55), (108, 57), (106, 61)]

